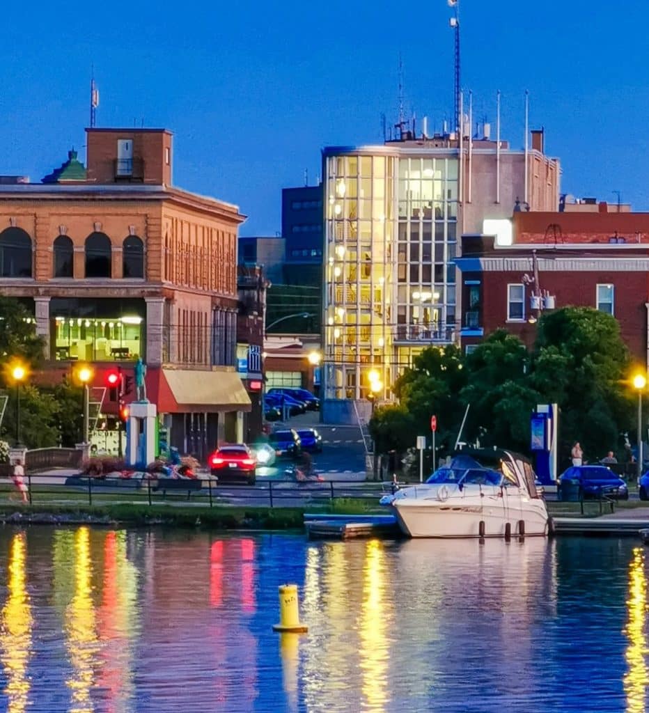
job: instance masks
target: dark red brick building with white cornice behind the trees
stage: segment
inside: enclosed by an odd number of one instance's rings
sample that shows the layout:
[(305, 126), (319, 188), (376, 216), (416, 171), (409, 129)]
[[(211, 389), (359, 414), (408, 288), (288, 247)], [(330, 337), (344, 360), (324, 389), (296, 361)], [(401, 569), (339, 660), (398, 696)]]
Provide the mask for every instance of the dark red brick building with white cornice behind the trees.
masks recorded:
[(470, 351), (504, 328), (528, 346), (544, 309), (594, 307), (612, 314), (630, 352), (649, 366), (649, 213), (517, 212), (513, 244), (464, 235), (461, 345)]

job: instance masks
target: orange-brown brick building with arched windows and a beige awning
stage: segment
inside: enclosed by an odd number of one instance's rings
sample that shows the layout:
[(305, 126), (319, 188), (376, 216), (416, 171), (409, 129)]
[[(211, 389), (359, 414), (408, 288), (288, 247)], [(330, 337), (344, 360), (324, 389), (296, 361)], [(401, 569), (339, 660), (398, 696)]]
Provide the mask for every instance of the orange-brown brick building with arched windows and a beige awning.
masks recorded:
[(86, 144), (87, 167), (71, 152), (42, 184), (0, 184), (0, 294), (34, 314), (44, 379), (91, 362), (100, 389), (141, 357), (170, 443), (202, 458), (250, 409), (235, 371), (245, 216), (171, 185), (167, 130), (90, 128)]

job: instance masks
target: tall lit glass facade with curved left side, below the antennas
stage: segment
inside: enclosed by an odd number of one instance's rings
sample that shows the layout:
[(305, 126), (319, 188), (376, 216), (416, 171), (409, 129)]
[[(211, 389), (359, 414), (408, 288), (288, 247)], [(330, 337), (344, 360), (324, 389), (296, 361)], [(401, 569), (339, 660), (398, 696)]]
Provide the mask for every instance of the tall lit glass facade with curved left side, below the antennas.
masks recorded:
[[(446, 155), (444, 155), (446, 153)], [(324, 397), (378, 399), (430, 344), (454, 342), (456, 155), (324, 150)]]

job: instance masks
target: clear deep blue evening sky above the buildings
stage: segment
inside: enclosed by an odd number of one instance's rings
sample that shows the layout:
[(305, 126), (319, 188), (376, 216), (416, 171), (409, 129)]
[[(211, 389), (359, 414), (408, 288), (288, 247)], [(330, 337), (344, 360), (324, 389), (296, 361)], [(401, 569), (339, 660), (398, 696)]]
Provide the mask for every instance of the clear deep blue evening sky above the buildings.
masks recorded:
[[(439, 128), (451, 115), (446, 0), (224, 4), (122, 0), (11, 3), (0, 50), (0, 173), (40, 180), (83, 150), (91, 65), (98, 126), (175, 134), (174, 183), (235, 202), (242, 235), (280, 230), (282, 187), (313, 183), (325, 145), (377, 143), (406, 106)], [(649, 210), (649, 6), (587, 0), (461, 0), (462, 85), (474, 116), (523, 145), (531, 126), (561, 158), (562, 190)]]

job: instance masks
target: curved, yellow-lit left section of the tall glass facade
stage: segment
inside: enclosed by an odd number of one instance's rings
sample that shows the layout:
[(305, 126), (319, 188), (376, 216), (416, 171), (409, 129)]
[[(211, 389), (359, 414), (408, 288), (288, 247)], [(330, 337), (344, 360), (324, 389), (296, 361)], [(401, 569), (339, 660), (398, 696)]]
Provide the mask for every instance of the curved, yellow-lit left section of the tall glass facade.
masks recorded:
[(392, 383), (394, 158), (326, 158), (324, 389), (362, 399)]

